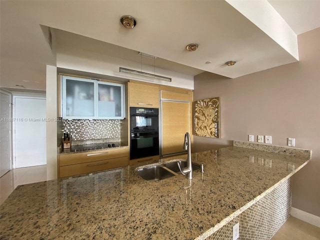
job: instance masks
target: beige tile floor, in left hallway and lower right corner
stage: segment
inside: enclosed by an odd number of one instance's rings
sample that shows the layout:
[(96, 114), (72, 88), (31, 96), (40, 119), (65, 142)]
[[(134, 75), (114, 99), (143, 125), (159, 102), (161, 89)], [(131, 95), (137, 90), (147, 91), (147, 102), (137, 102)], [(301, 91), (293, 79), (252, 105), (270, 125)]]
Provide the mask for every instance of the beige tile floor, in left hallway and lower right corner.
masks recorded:
[[(10, 170), (0, 177), (0, 204), (2, 204), (17, 185), (45, 180), (46, 165)], [(271, 240), (320, 240), (320, 227), (290, 216)]]

